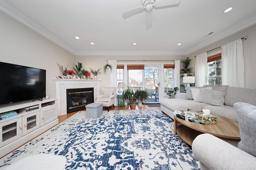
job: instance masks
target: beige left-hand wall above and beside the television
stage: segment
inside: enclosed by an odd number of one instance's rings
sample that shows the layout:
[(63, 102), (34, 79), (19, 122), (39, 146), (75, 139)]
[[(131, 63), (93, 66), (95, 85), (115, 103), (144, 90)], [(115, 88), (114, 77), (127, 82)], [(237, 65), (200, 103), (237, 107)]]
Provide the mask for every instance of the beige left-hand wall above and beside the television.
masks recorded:
[(62, 75), (56, 63), (71, 69), (75, 56), (1, 11), (0, 35), (0, 61), (45, 69), (46, 95), (55, 98), (52, 78)]

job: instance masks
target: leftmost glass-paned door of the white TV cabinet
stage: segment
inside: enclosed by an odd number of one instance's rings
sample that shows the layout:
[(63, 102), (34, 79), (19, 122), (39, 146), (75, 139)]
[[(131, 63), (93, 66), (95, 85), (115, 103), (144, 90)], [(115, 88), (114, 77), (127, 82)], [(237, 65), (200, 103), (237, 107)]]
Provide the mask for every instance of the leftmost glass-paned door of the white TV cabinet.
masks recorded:
[(22, 137), (22, 118), (5, 121), (0, 125), (0, 147)]

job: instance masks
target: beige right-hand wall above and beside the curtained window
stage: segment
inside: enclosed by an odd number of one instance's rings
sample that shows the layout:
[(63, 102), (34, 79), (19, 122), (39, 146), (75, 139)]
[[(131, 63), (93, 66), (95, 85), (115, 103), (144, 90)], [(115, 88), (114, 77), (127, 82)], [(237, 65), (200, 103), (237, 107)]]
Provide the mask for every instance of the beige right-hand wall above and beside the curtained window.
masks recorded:
[(245, 87), (256, 88), (254, 71), (254, 67), (256, 66), (256, 24), (189, 54), (188, 57), (192, 59), (191, 66), (193, 68), (195, 67), (196, 57), (194, 56), (235, 41), (236, 39), (245, 37), (246, 35), (248, 36), (248, 39), (243, 40)]

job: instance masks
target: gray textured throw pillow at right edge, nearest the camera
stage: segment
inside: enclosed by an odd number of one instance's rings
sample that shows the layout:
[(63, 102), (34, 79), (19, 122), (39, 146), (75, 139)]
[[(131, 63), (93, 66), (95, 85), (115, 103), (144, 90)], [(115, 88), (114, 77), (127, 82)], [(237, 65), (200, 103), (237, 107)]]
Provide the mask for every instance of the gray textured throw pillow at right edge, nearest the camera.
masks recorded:
[(256, 106), (246, 103), (235, 103), (238, 115), (241, 141), (238, 148), (256, 157)]

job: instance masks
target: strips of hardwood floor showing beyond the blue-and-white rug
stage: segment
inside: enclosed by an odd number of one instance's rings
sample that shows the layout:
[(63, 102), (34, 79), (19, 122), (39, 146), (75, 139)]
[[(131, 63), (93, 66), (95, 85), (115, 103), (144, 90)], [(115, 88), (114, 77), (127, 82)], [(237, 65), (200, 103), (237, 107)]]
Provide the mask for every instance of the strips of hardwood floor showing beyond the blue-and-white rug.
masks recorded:
[[(143, 107), (138, 107), (136, 106), (136, 110), (143, 110), (143, 109), (160, 109), (160, 107), (149, 107), (148, 105), (144, 104)], [(107, 108), (103, 107), (103, 110), (107, 110)], [(129, 107), (126, 105), (125, 107), (110, 107), (109, 110), (129, 110)], [(81, 111), (86, 111), (86, 109), (81, 110)], [(59, 123), (61, 123), (62, 121), (68, 119), (69, 117), (71, 117), (72, 115), (74, 115), (75, 113), (77, 113), (77, 111), (72, 112), (72, 113), (68, 113), (66, 115), (60, 115), (58, 116), (59, 119)]]

